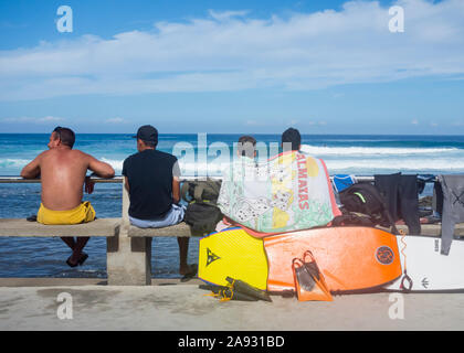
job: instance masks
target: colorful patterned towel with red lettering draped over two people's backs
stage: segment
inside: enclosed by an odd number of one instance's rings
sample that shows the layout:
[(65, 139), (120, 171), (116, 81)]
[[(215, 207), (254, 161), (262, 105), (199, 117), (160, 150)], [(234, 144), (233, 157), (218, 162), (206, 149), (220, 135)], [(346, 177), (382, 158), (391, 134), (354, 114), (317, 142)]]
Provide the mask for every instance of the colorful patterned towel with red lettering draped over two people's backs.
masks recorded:
[(223, 176), (219, 207), (256, 232), (307, 229), (341, 214), (324, 161), (302, 152), (282, 153), (264, 163), (241, 158)]

